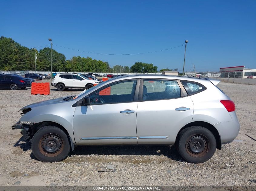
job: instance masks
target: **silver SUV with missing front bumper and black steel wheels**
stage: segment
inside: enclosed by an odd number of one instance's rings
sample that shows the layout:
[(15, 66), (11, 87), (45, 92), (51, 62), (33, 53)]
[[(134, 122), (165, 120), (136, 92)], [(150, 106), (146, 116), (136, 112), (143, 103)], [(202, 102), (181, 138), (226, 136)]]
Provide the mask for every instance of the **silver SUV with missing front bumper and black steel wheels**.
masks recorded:
[[(76, 96), (23, 107), (22, 129), (40, 161), (67, 157), (77, 145), (172, 145), (191, 163), (209, 160), (240, 125), (218, 80), (126, 75)], [(104, 124), (104, 126), (103, 126)]]

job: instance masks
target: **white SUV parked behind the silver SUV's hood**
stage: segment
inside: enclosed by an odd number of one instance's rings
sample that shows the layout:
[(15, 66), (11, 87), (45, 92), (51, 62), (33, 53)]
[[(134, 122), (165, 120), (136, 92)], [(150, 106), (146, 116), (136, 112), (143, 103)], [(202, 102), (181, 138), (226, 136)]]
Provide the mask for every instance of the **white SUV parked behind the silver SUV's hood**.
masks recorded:
[(56, 87), (58, 91), (67, 90), (68, 88), (85, 88), (87, 90), (99, 83), (98, 80), (89, 80), (74, 73), (56, 74), (52, 79), (52, 86)]

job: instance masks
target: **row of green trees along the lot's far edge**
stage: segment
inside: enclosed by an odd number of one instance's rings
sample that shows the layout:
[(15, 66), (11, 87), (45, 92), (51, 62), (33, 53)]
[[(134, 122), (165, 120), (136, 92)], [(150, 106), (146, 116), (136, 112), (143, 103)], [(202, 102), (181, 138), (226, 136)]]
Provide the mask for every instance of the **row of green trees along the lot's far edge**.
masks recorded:
[[(39, 51), (29, 49), (12, 40), (12, 38), (0, 37), (0, 70), (4, 71), (34, 71), (35, 53), (37, 56), (36, 69), (38, 71), (51, 70), (51, 48), (43, 48)], [(62, 53), (53, 49), (53, 72), (55, 72), (55, 59), (57, 72), (106, 72), (106, 73), (155, 73), (157, 66), (144, 62), (135, 62), (130, 67), (115, 65), (112, 68), (108, 62), (92, 59), (91, 57), (73, 56), (66, 60)], [(177, 69), (177, 68), (176, 68)], [(176, 70), (175, 69), (175, 70)], [(164, 70), (172, 69), (161, 69)]]

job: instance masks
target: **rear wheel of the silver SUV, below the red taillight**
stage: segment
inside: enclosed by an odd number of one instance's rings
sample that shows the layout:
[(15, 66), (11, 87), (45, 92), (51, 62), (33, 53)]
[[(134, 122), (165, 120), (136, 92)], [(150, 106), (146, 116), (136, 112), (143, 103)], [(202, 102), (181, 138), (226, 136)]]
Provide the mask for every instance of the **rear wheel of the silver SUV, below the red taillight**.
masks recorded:
[(177, 139), (181, 157), (189, 163), (204, 163), (216, 150), (216, 139), (212, 132), (201, 126), (183, 129)]

